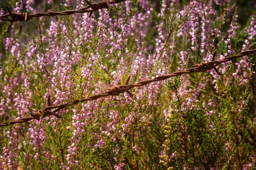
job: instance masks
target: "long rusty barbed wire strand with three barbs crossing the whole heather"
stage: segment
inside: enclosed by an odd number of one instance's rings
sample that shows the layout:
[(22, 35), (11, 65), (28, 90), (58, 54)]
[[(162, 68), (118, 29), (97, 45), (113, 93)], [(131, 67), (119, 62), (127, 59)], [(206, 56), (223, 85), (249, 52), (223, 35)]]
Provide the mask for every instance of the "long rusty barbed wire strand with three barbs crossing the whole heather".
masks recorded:
[[(50, 102), (50, 99), (48, 97), (48, 105), (49, 106), (44, 108), (44, 110), (40, 110), (40, 111), (38, 111), (34, 114), (31, 114), (29, 117), (3, 122), (3, 123), (0, 124), (0, 127), (8, 126), (8, 125), (14, 125), (16, 123), (29, 122), (33, 119), (39, 120), (39, 119), (41, 119), (41, 117), (44, 118), (46, 116), (51, 116), (51, 115), (56, 116), (58, 118), (62, 118), (60, 115), (57, 114), (57, 112), (60, 111), (61, 109), (67, 108), (68, 106), (77, 105), (79, 103), (96, 100), (96, 99), (99, 99), (101, 97), (106, 97), (106, 96), (118, 96), (119, 94), (123, 94), (125, 92), (132, 96), (131, 92), (129, 91), (131, 88), (145, 86), (145, 85), (148, 85), (152, 82), (163, 81), (163, 80), (169, 79), (171, 77), (180, 76), (182, 74), (191, 74), (191, 73), (195, 73), (195, 72), (206, 72), (206, 71), (214, 69), (218, 75), (221, 75), (218, 72), (216, 66), (220, 65), (221, 63), (229, 62), (233, 59), (236, 59), (236, 58), (239, 58), (239, 57), (244, 57), (244, 56), (247, 56), (247, 55), (253, 54), (253, 53), (256, 53), (256, 49), (243, 51), (239, 54), (229, 56), (229, 57), (225, 57), (224, 59), (222, 59), (220, 61), (214, 61), (215, 56), (216, 56), (216, 51), (215, 51), (214, 54), (213, 54), (213, 57), (212, 57), (212, 61), (201, 62), (199, 64), (195, 64), (195, 65), (192, 66), (192, 68), (188, 68), (184, 71), (176, 71), (172, 74), (167, 74), (167, 75), (162, 75), (162, 76), (159, 76), (159, 77), (155, 77), (154, 79), (146, 79), (146, 80), (137, 82), (133, 85), (128, 85), (128, 81), (130, 79), (130, 77), (128, 77), (125, 85), (114, 86), (114, 87), (108, 88), (108, 91), (105, 91), (102, 94), (89, 96), (89, 97), (86, 97), (86, 98), (80, 99), (80, 100), (74, 100), (74, 101), (71, 101), (71, 102), (67, 102), (66, 104), (63, 104), (63, 105), (52, 105), (51, 106), (51, 102)], [(51, 111), (51, 109), (55, 109), (55, 110)]]

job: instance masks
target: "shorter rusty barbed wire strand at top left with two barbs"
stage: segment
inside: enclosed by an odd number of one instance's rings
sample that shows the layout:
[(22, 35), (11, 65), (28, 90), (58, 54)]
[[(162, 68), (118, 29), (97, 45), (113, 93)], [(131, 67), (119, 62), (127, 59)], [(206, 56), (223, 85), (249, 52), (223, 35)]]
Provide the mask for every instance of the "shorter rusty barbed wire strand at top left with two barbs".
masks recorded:
[[(28, 20), (31, 20), (34, 17), (53, 17), (57, 15), (72, 15), (76, 13), (90, 13), (89, 17), (93, 14), (93, 11), (98, 11), (99, 9), (111, 9), (110, 4), (116, 4), (116, 3), (121, 3), (123, 1), (128, 1), (128, 0), (103, 0), (102, 2), (97, 2), (97, 3), (90, 3), (88, 0), (84, 0), (88, 6), (81, 8), (79, 10), (67, 10), (67, 11), (49, 11), (49, 12), (37, 12), (35, 14), (28, 14), (27, 12), (19, 13), (17, 14), (16, 12), (12, 12), (11, 9), (6, 6), (6, 10), (8, 11), (9, 14), (5, 14), (0, 16), (0, 20), (3, 21), (9, 21), (9, 26), (8, 29), (11, 28), (12, 23), (17, 22), (17, 21), (22, 21), (26, 22)], [(10, 18), (11, 17), (11, 18)]]

